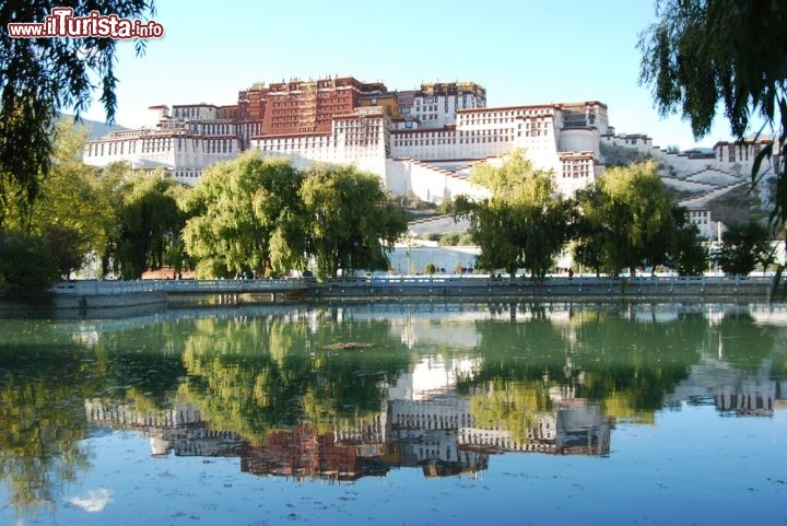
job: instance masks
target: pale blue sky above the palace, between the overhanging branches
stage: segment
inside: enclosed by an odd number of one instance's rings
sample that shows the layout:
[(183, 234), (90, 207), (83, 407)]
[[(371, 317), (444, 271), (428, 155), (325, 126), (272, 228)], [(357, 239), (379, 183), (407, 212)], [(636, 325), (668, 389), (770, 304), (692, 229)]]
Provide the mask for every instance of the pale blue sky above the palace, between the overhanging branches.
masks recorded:
[[(165, 35), (144, 57), (119, 45), (124, 126), (146, 124), (155, 104), (234, 104), (257, 81), (353, 75), (397, 90), (474, 81), (489, 106), (597, 100), (618, 132), (663, 148), (730, 139), (719, 118), (694, 141), (638, 84), (636, 44), (655, 21), (653, 0), (158, 0), (154, 20)], [(103, 120), (101, 107), (85, 117)]]

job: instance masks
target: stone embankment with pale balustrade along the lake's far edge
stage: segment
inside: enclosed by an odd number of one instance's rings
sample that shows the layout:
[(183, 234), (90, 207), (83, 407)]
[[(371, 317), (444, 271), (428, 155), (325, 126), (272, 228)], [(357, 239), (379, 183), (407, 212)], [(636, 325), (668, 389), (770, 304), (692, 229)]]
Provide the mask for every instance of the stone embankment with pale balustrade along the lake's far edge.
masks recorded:
[[(111, 288), (111, 290), (110, 290)], [(0, 317), (119, 318), (184, 307), (342, 303), (770, 304), (768, 278), (362, 278), (69, 282), (48, 301), (0, 300)]]

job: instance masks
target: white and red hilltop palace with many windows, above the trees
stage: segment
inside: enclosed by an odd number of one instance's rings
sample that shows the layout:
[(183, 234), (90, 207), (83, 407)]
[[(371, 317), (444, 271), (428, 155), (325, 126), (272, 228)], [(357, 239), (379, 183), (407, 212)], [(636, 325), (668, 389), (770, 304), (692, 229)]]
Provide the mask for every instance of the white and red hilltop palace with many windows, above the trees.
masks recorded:
[(468, 180), (472, 166), (500, 162), (514, 149), (551, 170), (565, 195), (590, 184), (613, 162), (607, 157), (623, 152), (659, 162), (691, 220), (703, 235), (715, 236), (706, 203), (751, 180), (754, 157), (767, 141), (668, 152), (645, 135), (615, 133), (607, 109), (598, 101), (486, 107), (486, 91), (474, 82), (390, 91), (351, 77), (294, 80), (240, 91), (236, 105), (152, 106), (150, 126), (90, 141), (83, 160), (165, 168), (195, 184), (205, 167), (256, 149), (287, 156), (297, 167), (352, 163), (377, 174), (396, 195), (441, 203), (483, 195)]

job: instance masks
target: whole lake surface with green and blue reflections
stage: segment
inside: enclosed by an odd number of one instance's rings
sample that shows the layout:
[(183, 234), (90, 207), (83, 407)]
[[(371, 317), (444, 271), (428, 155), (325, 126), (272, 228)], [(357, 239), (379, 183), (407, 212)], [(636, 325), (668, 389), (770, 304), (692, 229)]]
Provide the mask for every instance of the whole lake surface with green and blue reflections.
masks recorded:
[(787, 307), (0, 320), (0, 524), (787, 524)]

